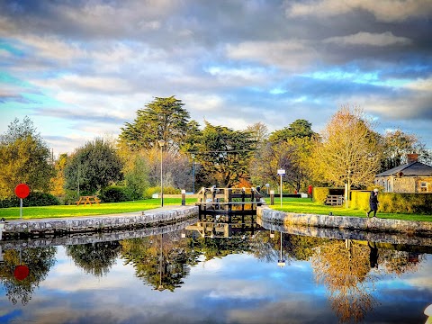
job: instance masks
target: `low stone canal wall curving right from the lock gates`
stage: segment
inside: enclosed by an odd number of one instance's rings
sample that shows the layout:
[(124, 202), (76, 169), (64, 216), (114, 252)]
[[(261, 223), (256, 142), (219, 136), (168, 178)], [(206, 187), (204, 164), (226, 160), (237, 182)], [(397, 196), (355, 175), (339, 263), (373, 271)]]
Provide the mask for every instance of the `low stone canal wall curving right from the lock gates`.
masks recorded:
[(275, 211), (267, 206), (257, 207), (257, 216), (264, 221), (280, 225), (432, 235), (432, 222), (429, 221), (315, 215)]

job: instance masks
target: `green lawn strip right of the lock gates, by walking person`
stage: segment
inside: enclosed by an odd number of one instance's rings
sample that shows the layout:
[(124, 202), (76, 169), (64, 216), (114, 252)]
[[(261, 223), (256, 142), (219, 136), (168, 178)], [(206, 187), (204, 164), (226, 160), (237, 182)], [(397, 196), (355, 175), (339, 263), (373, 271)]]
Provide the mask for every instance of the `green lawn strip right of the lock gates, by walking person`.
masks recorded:
[[(270, 203), (270, 199), (266, 199), (266, 203)], [(319, 215), (329, 215), (330, 212), (335, 216), (354, 216), (354, 217), (366, 217), (366, 211), (355, 210), (346, 208), (344, 206), (328, 206), (319, 204), (317, 202), (311, 202), (310, 198), (283, 198), (282, 208), (280, 198), (275, 197), (275, 204), (270, 208), (276, 211), (287, 211), (287, 212), (300, 212), (300, 213), (311, 213)], [(421, 215), (421, 214), (404, 214), (404, 213), (384, 213), (377, 212), (377, 217), (383, 219), (393, 220), (422, 220), (432, 221), (432, 215)]]

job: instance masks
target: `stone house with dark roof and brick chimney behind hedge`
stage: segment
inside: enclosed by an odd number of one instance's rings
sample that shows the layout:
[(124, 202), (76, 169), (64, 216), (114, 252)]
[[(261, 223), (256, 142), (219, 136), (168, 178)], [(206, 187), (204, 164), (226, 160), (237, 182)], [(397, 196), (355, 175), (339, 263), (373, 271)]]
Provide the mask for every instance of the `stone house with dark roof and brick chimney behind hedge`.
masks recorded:
[(409, 154), (408, 163), (375, 175), (375, 184), (384, 193), (432, 193), (432, 166), (418, 161), (418, 154)]

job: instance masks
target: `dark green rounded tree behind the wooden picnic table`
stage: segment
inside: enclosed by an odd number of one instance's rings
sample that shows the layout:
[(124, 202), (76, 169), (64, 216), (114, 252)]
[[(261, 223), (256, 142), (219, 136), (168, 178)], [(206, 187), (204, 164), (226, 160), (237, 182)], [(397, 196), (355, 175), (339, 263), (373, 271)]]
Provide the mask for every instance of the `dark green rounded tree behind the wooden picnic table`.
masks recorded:
[(121, 159), (112, 142), (103, 139), (88, 141), (69, 158), (65, 168), (66, 188), (84, 193), (120, 181)]

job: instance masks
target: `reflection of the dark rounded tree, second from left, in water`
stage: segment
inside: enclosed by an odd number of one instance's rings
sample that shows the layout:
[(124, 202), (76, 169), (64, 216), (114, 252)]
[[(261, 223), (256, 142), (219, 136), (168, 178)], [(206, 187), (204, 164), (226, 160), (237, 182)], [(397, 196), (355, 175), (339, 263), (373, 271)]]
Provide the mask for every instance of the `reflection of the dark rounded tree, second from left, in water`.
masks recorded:
[(66, 253), (76, 266), (81, 267), (86, 274), (101, 277), (110, 272), (119, 256), (120, 243), (118, 241), (97, 242), (76, 246), (67, 246)]

